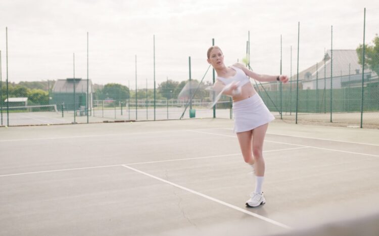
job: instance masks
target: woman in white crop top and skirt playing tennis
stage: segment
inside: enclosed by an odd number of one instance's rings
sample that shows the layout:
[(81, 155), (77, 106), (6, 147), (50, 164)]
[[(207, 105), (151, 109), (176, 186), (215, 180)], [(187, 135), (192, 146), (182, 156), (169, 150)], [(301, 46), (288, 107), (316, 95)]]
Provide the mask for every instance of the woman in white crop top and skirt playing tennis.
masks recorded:
[(246, 202), (246, 206), (257, 207), (266, 203), (262, 192), (265, 171), (262, 150), (268, 123), (275, 117), (255, 91), (249, 77), (260, 82), (282, 83), (287, 83), (288, 77), (257, 74), (241, 63), (225, 66), (224, 55), (217, 46), (210, 47), (207, 56), (208, 63), (217, 73), (214, 90), (223, 91), (223, 94), (232, 97), (233, 100), (234, 132), (237, 134), (244, 160), (251, 165), (256, 176), (255, 190), (250, 194), (251, 198)]

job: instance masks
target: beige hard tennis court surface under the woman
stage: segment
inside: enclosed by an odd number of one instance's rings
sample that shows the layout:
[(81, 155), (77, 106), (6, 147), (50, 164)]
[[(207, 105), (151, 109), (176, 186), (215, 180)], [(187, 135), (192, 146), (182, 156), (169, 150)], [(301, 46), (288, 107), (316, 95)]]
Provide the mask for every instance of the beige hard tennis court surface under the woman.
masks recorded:
[(379, 131), (269, 125), (263, 191), (232, 121), (0, 128), (0, 235), (378, 235)]

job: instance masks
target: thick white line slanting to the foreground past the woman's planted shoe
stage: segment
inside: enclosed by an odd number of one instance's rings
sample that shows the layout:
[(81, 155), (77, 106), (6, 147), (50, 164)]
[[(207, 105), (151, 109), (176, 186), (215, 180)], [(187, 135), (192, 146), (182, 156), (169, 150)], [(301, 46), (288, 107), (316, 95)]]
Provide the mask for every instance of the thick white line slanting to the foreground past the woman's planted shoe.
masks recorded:
[(194, 193), (194, 194), (196, 194), (196, 195), (202, 196), (203, 198), (206, 198), (206, 199), (211, 200), (211, 201), (213, 201), (213, 202), (219, 203), (219, 204), (224, 205), (224, 206), (226, 206), (226, 207), (229, 207), (229, 208), (232, 208), (232, 209), (234, 209), (234, 210), (237, 210), (237, 211), (240, 211), (240, 212), (246, 213), (246, 214), (248, 214), (248, 215), (254, 216), (254, 217), (258, 218), (258, 219), (264, 220), (264, 221), (266, 221), (266, 222), (268, 222), (268, 223), (271, 223), (271, 224), (274, 224), (274, 225), (276, 225), (276, 226), (279, 226), (279, 227), (282, 227), (282, 228), (286, 228), (286, 229), (292, 229), (292, 228), (291, 228), (290, 226), (288, 226), (288, 225), (285, 225), (285, 224), (279, 223), (279, 222), (277, 222), (277, 221), (271, 220), (271, 219), (269, 219), (269, 218), (267, 218), (267, 217), (264, 217), (264, 216), (258, 215), (258, 214), (254, 213), (254, 212), (250, 212), (250, 211), (247, 211), (247, 210), (245, 210), (245, 209), (242, 209), (242, 208), (236, 207), (236, 206), (231, 205), (231, 204), (229, 204), (229, 203), (225, 203), (225, 202), (223, 202), (223, 201), (221, 201), (221, 200), (218, 200), (218, 199), (212, 198), (211, 196), (208, 196), (208, 195), (203, 194), (203, 193), (201, 193), (201, 192), (198, 192), (198, 191), (195, 191), (195, 190), (192, 190), (192, 189), (189, 189), (189, 188), (183, 187), (183, 186), (181, 186), (181, 185), (179, 185), (179, 184), (176, 184), (176, 183), (173, 183), (173, 182), (167, 181), (167, 180), (165, 180), (165, 179), (161, 179), (161, 178), (159, 178), (159, 177), (157, 177), (157, 176), (154, 176), (154, 175), (148, 174), (148, 173), (146, 173), (146, 172), (143, 172), (143, 171), (140, 171), (140, 170), (134, 169), (134, 168), (129, 167), (129, 166), (127, 166), (127, 165), (122, 165), (122, 166), (125, 167), (125, 168), (127, 168), (127, 169), (129, 169), (129, 170), (132, 170), (132, 171), (138, 172), (138, 173), (140, 173), (140, 174), (146, 175), (146, 176), (148, 176), (148, 177), (151, 177), (151, 178), (153, 178), (153, 179), (156, 179), (156, 180), (159, 180), (159, 181), (161, 181), (161, 182), (164, 182), (164, 183), (170, 184), (170, 185), (172, 185), (172, 186), (174, 186), (174, 187), (177, 187), (177, 188), (180, 188), (180, 189), (182, 189), (182, 190), (185, 190), (185, 191), (188, 191), (188, 192)]

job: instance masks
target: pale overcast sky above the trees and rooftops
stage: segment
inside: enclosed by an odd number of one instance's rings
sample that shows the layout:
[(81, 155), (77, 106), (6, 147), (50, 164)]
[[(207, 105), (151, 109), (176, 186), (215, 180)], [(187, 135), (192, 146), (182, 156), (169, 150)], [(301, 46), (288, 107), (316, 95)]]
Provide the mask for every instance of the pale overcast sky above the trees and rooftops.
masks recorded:
[[(297, 34), (300, 22), (299, 71), (322, 60), (333, 48), (356, 49), (379, 33), (379, 1), (243, 1), (243, 0), (1, 0), (0, 50), (6, 80), (6, 27), (10, 82), (89, 78), (96, 84), (120, 83), (153, 88), (153, 35), (156, 84), (189, 77), (201, 80), (209, 64), (206, 51), (220, 46), (225, 64), (241, 60), (250, 31), (251, 66), (265, 74), (297, 70)], [(211, 70), (205, 80), (212, 80)]]

